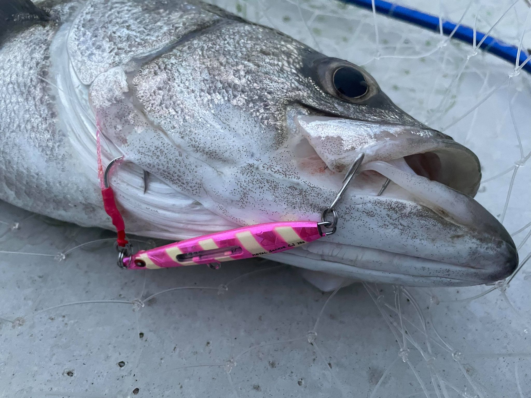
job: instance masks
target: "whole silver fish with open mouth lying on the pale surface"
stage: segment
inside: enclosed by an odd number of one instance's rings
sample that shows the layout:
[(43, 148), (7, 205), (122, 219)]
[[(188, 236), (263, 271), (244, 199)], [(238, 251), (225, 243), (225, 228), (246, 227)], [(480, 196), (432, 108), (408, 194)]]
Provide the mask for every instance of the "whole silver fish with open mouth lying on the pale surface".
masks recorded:
[[(476, 155), (405, 113), (364, 68), (199, 0), (9, 0), (0, 8), (0, 199), (181, 240), (321, 221), (337, 232), (268, 258), (310, 279), (491, 283), (509, 233), (474, 200)], [(98, 166), (98, 139), (101, 164)]]

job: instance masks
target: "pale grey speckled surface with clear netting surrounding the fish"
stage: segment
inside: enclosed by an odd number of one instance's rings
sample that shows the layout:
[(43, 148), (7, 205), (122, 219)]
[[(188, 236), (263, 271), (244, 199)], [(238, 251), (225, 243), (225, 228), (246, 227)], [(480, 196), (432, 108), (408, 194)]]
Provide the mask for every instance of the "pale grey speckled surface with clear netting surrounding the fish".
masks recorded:
[[(489, 286), (328, 293), (265, 259), (124, 272), (109, 232), (2, 204), (3, 396), (531, 396), (529, 74), (480, 39), (345, 3), (213, 3), (362, 65), (407, 113), (472, 149), (477, 200), (513, 236), (521, 270)], [(524, 0), (400, 5), (529, 53)]]

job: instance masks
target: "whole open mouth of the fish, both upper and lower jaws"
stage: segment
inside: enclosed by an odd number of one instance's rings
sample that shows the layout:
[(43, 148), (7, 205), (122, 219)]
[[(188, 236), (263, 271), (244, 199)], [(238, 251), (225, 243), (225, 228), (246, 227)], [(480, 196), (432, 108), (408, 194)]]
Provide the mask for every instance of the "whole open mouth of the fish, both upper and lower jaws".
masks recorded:
[(312, 115), (294, 121), (296, 157), (315, 184), (330, 186), (323, 176), (342, 175), (359, 153), (365, 157), (337, 207), (336, 235), (277, 259), (416, 286), (483, 284), (515, 270), (509, 233), (473, 199), (481, 169), (472, 151), (425, 126)]

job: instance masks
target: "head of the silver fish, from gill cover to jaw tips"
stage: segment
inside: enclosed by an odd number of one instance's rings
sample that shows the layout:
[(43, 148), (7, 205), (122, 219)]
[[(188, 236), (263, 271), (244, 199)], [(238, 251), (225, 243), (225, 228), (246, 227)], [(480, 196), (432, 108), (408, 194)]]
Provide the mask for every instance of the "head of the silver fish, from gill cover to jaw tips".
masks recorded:
[[(482, 284), (517, 265), (511, 237), (473, 199), (472, 151), (398, 108), (363, 68), (277, 31), (219, 24), (100, 74), (90, 99), (127, 160), (234, 226), (321, 221), (363, 153), (337, 232), (278, 261), (406, 285)], [(183, 237), (185, 221), (173, 222)]]

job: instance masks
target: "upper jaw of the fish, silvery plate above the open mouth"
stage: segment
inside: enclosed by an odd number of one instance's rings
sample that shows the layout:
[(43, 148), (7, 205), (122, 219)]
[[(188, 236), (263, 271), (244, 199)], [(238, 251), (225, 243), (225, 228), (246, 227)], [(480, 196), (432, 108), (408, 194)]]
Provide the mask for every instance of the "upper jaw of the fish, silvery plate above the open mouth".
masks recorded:
[(333, 171), (348, 169), (363, 152), (365, 163), (404, 158), (406, 169), (467, 195), (474, 196), (479, 188), (481, 166), (476, 155), (429, 127), (313, 115), (294, 119), (303, 142)]

